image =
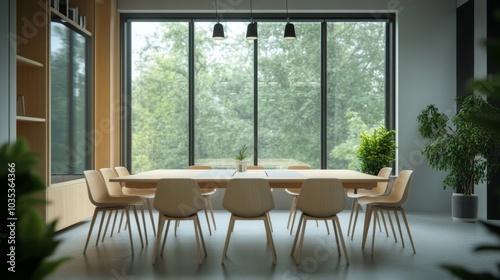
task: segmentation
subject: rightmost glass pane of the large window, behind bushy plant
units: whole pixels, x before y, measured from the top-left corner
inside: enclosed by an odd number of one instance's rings
[[[385,24],[328,23],[328,168],[357,168],[359,135],[385,123]]]

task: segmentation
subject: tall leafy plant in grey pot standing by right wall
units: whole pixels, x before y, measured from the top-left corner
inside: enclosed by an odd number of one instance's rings
[[[443,188],[453,188],[452,218],[475,222],[478,198],[474,186],[488,179],[488,171],[500,168],[500,159],[491,156],[500,139],[494,132],[477,123],[477,113],[498,114],[500,111],[478,94],[457,97],[459,110],[450,119],[434,105],[428,105],[417,118],[418,129],[429,143],[422,155],[432,168],[449,171]]]

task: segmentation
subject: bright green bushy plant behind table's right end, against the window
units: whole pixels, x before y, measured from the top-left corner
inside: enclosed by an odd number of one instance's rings
[[[387,130],[385,126],[372,133],[361,133],[361,143],[356,150],[361,172],[377,175],[380,169],[392,164],[396,155],[395,136],[396,131]]]

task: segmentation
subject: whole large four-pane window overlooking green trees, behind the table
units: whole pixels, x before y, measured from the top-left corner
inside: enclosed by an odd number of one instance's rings
[[[133,172],[234,168],[244,144],[266,168],[355,169],[360,133],[393,128],[391,20],[294,20],[287,41],[284,23],[268,19],[248,41],[248,20],[233,19],[217,41],[214,22],[127,17],[123,153]]]

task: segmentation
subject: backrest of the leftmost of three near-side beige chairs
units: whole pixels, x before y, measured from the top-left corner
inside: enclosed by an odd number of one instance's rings
[[[154,208],[168,217],[189,217],[202,210],[205,201],[193,179],[160,179],[156,186]]]

